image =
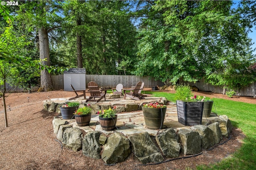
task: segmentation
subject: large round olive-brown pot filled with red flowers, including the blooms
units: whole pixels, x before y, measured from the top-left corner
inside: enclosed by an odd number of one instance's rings
[[[148,129],[162,129],[166,113],[166,105],[158,102],[142,104],[142,111]]]

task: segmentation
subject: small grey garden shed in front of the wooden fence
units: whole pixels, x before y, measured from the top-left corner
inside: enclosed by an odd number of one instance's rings
[[[70,68],[68,71],[64,71],[64,91],[73,91],[70,84],[75,90],[85,90],[85,76],[85,68]]]

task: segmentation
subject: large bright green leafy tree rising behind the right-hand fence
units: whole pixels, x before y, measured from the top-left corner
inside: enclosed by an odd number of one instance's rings
[[[237,77],[231,80],[230,76],[235,70],[245,70],[253,59],[250,39],[240,24],[242,20],[231,13],[232,2],[154,1],[149,4],[152,8],[140,28],[138,55],[142,60],[136,74],[152,75],[163,82],[170,78],[172,83],[179,78],[191,82],[207,76],[214,84],[215,80],[210,79],[218,67],[222,65],[224,72],[232,65],[233,71],[226,72],[226,81],[221,85],[230,88],[245,85],[234,84]],[[231,63],[240,63],[242,68]],[[242,76],[245,72],[237,74]],[[251,80],[248,76],[246,82]]]

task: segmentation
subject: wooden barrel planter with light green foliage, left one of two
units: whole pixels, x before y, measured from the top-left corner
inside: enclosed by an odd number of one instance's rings
[[[88,104],[90,106],[90,104]],[[84,106],[75,111],[75,119],[78,126],[89,125],[92,116],[92,109],[88,106]]]

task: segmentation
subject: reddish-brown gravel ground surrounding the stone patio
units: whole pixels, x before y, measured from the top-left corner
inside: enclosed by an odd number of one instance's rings
[[[173,91],[166,92],[173,93]],[[221,94],[199,92],[195,94],[225,98]],[[244,139],[240,129],[233,129],[229,141],[213,150],[204,151],[199,156],[143,166],[133,154],[130,154],[126,161],[107,166],[101,159],[84,156],[81,150],[74,152],[65,147],[61,149],[60,143],[55,140],[52,119],[58,114],[44,111],[42,102],[48,98],[73,96],[74,92],[61,90],[32,94],[6,94],[6,104],[9,106],[7,128],[5,128],[3,106],[0,106],[0,170],[183,170],[188,167],[194,169],[198,164],[219,162],[230,156],[241,147],[242,139]],[[249,97],[231,98],[230,100],[256,104],[256,100]],[[223,141],[226,140],[226,138],[223,139]]]

